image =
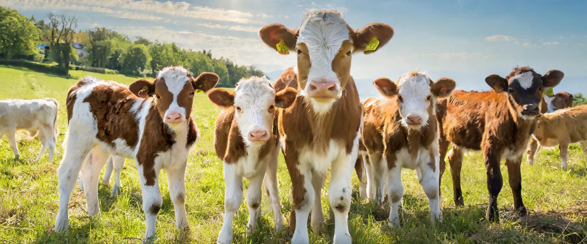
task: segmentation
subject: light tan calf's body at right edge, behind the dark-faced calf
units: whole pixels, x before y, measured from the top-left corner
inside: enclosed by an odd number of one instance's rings
[[[531,144],[528,149],[529,164],[534,163],[538,146],[554,147],[559,145],[561,167],[566,170],[569,143],[581,143],[583,153],[587,153],[587,105],[559,109],[538,116],[532,138],[537,144]]]

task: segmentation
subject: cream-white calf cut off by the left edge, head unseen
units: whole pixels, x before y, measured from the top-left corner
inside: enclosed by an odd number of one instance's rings
[[[41,152],[35,161],[49,149],[49,161],[53,161],[57,143],[57,114],[59,104],[53,98],[0,100],[0,139],[6,135],[14,157],[19,160],[16,147],[16,130],[26,130],[29,136],[41,140]]]

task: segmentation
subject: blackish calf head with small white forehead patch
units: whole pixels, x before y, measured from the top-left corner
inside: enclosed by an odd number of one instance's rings
[[[505,78],[492,74],[485,78],[495,93],[507,92],[510,108],[515,109],[522,119],[534,119],[540,114],[540,101],[545,89],[558,85],[564,73],[548,71],[545,75],[536,73],[530,67],[518,67]]]

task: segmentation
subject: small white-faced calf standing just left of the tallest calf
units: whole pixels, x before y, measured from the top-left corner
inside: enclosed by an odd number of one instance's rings
[[[288,107],[297,94],[294,88],[275,92],[269,80],[261,77],[240,80],[234,92],[217,88],[208,93],[214,104],[224,108],[216,119],[214,133],[214,148],[224,162],[226,184],[224,223],[218,243],[232,242],[232,219],[242,203],[243,177],[249,180],[248,231],[255,229],[261,214],[262,183],[275,216],[275,229],[281,230],[284,217],[277,188],[279,135],[273,120],[275,107]]]

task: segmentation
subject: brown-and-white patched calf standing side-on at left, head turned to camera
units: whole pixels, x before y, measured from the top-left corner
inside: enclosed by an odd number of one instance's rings
[[[217,82],[218,75],[214,73],[193,78],[182,67],[167,67],[153,82],[139,80],[130,87],[93,77],[82,78],[73,85],[67,97],[69,125],[65,154],[57,171],[59,214],[55,231],[68,228],[68,204],[82,168],[87,213],[99,214],[100,170],[110,154],[137,162],[147,221],[146,238],[156,234],[155,223],[162,203],[158,184],[161,169],[167,172],[176,227],[188,225],[184,178],[188,152],[198,138],[190,116],[194,91],[208,91]],[[137,97],[141,91],[150,97]],[[88,153],[92,154],[91,160],[82,164]]]

